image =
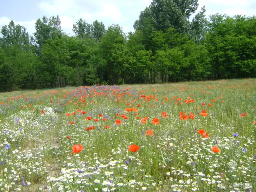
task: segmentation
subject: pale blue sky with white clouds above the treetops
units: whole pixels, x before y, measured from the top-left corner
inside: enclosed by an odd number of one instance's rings
[[[0,0],[0,29],[13,20],[32,35],[38,18],[58,15],[63,32],[69,35],[74,35],[73,24],[80,18],[88,24],[95,20],[102,21],[106,29],[112,24],[119,24],[128,33],[134,31],[134,22],[151,2],[152,0]],[[198,3],[197,12],[202,6],[206,6],[206,16],[216,13],[253,16],[256,13],[256,0],[198,0]]]

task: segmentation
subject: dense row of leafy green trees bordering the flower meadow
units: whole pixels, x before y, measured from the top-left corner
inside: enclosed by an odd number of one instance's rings
[[[124,34],[78,20],[74,36],[43,16],[30,36],[10,21],[0,38],[0,91],[256,77],[256,17],[205,15],[198,0],[153,0]]]

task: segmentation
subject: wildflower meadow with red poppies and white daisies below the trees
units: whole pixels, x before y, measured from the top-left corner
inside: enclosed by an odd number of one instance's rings
[[[256,79],[0,94],[0,191],[256,191]]]

